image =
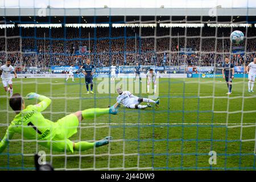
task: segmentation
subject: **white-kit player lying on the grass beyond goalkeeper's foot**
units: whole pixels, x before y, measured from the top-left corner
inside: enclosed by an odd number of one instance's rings
[[[117,88],[117,93],[119,94],[117,102],[130,109],[144,109],[146,107],[151,107],[149,103],[147,103],[147,105],[141,105],[141,102],[151,102],[159,105],[159,99],[157,101],[153,101],[149,98],[139,98],[131,94],[129,91],[122,91],[121,88]]]

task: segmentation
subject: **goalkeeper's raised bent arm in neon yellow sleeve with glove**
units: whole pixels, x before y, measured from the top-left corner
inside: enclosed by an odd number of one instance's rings
[[[45,110],[52,102],[52,100],[46,96],[41,96],[37,93],[31,92],[27,94],[27,99],[32,100],[32,99],[38,99],[40,102],[36,104],[36,109],[40,112]]]

